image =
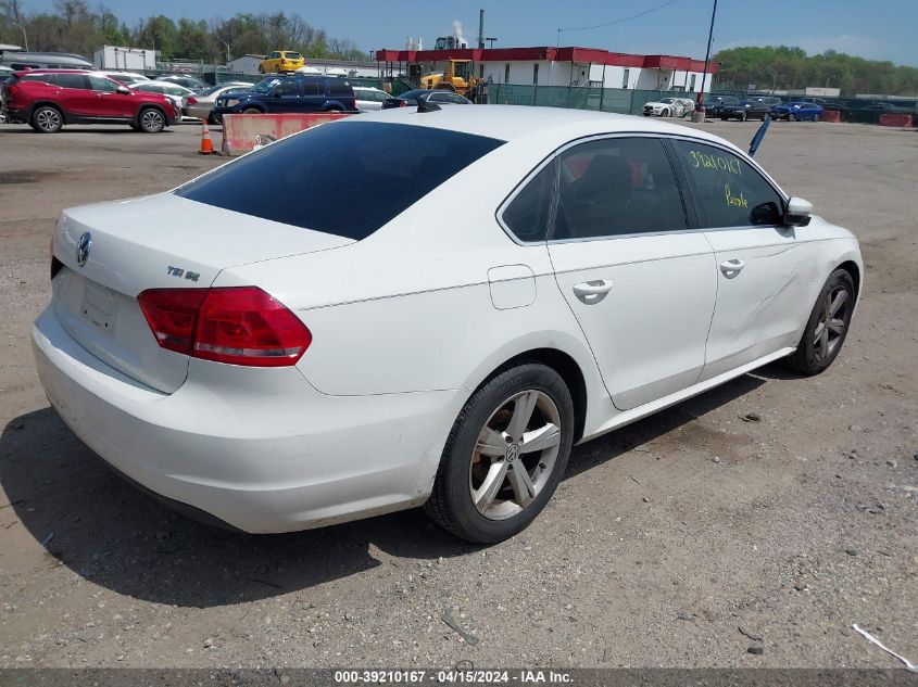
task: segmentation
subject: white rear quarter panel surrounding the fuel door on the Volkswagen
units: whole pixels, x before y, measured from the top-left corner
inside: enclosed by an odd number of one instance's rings
[[[595,361],[545,245],[517,244],[495,218],[548,152],[523,148],[498,149],[363,241],[227,269],[215,285],[256,283],[293,309],[314,336],[299,367],[326,394],[474,389],[540,347],[567,353],[590,384]],[[476,200],[457,212],[460,198]],[[489,269],[516,265],[530,270],[535,301],[498,309]]]

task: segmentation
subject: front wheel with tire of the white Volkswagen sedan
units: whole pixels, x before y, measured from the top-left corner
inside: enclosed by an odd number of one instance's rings
[[[854,311],[854,279],[844,269],[837,269],[822,285],[800,343],[788,362],[801,374],[819,374],[838,357],[847,336]]]

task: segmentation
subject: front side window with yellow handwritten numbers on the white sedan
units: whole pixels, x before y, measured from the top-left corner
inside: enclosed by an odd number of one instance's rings
[[[719,148],[674,141],[702,227],[781,222],[784,202],[752,165]]]

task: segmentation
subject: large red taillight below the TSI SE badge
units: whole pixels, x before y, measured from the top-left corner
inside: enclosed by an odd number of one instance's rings
[[[281,367],[312,343],[306,326],[257,287],[151,289],[137,300],[156,342],[196,358]]]

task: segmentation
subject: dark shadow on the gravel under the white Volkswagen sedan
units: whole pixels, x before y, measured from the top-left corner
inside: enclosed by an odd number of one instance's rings
[[[764,384],[743,376],[574,449],[565,479],[613,460]],[[419,509],[281,535],[247,535],[178,516],[122,481],[51,408],[0,435],[0,527],[24,526],[49,565],[118,594],[206,608],[287,594],[400,559],[464,556],[481,547]],[[12,512],[11,512],[12,511]]]

